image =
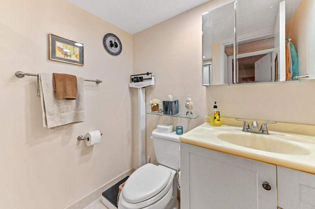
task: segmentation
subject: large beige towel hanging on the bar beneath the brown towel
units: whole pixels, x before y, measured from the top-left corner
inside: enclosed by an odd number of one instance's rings
[[[77,77],[76,100],[59,100],[53,87],[52,74],[38,74],[37,95],[40,96],[43,126],[51,131],[84,121],[84,78]]]

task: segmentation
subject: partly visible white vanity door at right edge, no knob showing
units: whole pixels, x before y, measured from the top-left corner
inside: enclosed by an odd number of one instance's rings
[[[283,209],[315,209],[315,175],[277,166],[278,205]]]

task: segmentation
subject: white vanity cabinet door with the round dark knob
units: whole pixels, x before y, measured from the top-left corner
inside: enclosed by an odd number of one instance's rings
[[[275,165],[181,143],[181,209],[275,209],[276,178]]]

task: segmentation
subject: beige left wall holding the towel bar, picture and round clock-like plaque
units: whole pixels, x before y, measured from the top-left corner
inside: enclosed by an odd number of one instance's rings
[[[133,39],[66,0],[10,0],[0,6],[0,208],[63,209],[132,169]],[[49,33],[84,44],[84,66],[49,60]],[[116,34],[123,51],[103,47]],[[51,132],[42,125],[36,78],[14,73],[68,73],[85,82],[85,122]],[[94,147],[77,141],[99,130]]]

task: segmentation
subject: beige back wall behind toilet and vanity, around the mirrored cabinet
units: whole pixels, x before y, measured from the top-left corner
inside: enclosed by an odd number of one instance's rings
[[[204,115],[211,114],[214,101],[223,117],[315,125],[315,81],[201,86],[201,14],[231,1],[211,0],[134,35],[134,73],[149,71],[156,75],[156,85],[147,88],[147,103],[172,94],[179,99],[183,113],[189,94],[194,102],[192,112],[200,115],[182,119],[147,114],[147,156],[154,163],[150,136],[156,126],[183,125],[184,131],[189,131],[203,123]],[[133,104],[136,112],[136,101]],[[147,111],[149,108],[147,104]]]

